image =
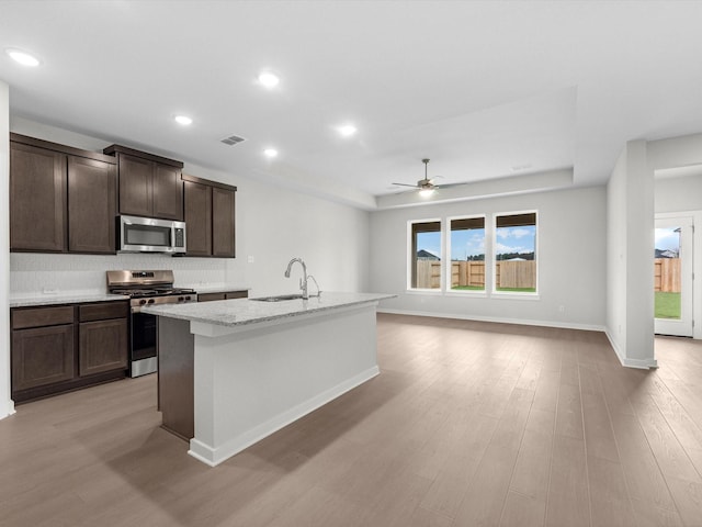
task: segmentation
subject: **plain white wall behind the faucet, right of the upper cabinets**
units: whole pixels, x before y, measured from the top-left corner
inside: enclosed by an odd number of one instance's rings
[[[227,260],[229,281],[246,277],[254,295],[296,292],[302,269],[291,278],[284,271],[302,257],[322,291],[367,290],[367,212],[253,181],[239,186],[237,208],[239,256]]]

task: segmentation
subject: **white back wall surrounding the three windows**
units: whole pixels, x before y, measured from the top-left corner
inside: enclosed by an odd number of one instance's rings
[[[537,300],[406,290],[408,221],[524,210],[539,211]],[[371,213],[371,290],[398,295],[383,302],[386,311],[602,329],[604,234],[604,187],[377,211]]]

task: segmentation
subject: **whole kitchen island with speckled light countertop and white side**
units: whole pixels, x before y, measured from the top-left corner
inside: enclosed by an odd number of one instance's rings
[[[216,466],[380,373],[375,313],[389,294],[158,305],[159,408]]]

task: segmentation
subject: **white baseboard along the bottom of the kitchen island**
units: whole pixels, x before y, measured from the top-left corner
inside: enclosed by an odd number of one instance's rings
[[[239,453],[241,450],[250,447],[254,442],[260,441],[264,437],[280,430],[281,428],[290,425],[291,423],[304,417],[305,415],[314,412],[315,410],[324,406],[328,402],[343,395],[350,390],[370,381],[374,377],[378,375],[381,370],[377,366],[370,368],[361,373],[347,379],[346,381],[324,391],[322,393],[315,395],[314,397],[304,401],[303,403],[279,414],[265,423],[261,423],[259,426],[251,430],[247,430],[238,437],[220,445],[217,448],[213,448],[210,445],[193,438],[190,440],[190,450],[188,453],[193,458],[202,461],[210,467],[216,467],[217,464],[226,461],[231,456]]]

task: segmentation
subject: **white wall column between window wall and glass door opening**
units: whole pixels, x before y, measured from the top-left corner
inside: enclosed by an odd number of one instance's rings
[[[623,365],[655,367],[654,173],[645,141],[625,145],[607,198],[607,335]]]

